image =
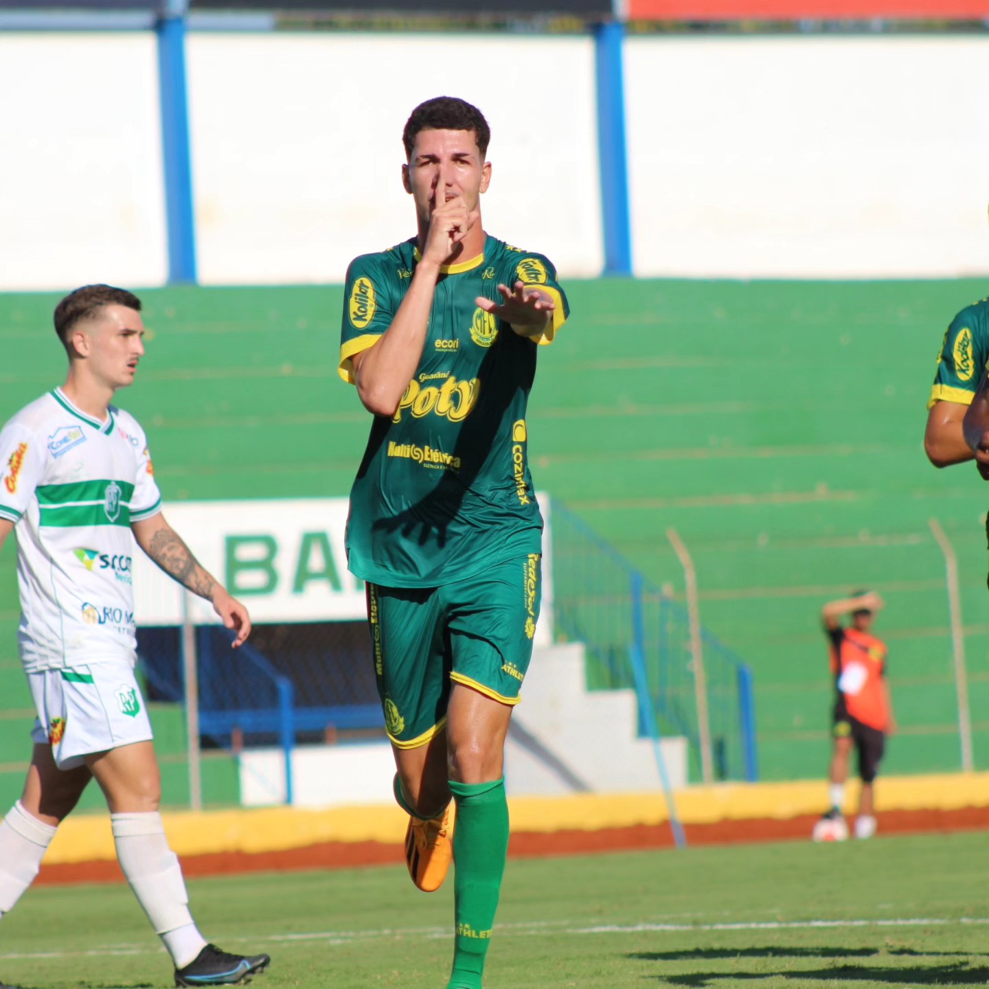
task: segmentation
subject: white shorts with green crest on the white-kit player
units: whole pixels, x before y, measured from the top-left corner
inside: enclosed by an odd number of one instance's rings
[[[33,742],[51,746],[59,769],[83,756],[151,738],[147,705],[128,660],[28,674],[38,721]]]

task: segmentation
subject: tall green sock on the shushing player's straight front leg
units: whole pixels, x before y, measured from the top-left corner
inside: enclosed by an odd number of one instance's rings
[[[457,804],[453,832],[456,938],[447,989],[481,989],[508,853],[504,779],[490,783],[450,780]]]

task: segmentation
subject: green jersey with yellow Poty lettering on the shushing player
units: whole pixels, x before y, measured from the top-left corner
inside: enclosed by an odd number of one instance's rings
[[[392,323],[419,259],[415,240],[356,258],[347,271],[340,376]],[[556,310],[527,339],[475,302],[498,284],[538,286]],[[529,474],[525,405],[536,350],[569,313],[542,255],[489,236],[484,254],[444,266],[422,356],[398,411],[376,415],[350,493],[347,554],[373,584],[428,587],[541,551],[543,520]]]

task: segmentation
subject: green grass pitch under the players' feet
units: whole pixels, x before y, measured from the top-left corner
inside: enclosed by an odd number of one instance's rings
[[[603,841],[603,839],[602,839]],[[512,860],[489,989],[972,985],[989,981],[984,835]],[[207,937],[265,950],[259,989],[442,989],[452,889],[404,868],[189,883]],[[24,989],[171,985],[124,885],[43,886],[0,925]]]

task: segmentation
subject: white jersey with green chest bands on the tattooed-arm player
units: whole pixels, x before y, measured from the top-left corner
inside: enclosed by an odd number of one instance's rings
[[[136,658],[131,523],[161,510],[144,432],[60,389],[0,431],[0,518],[16,523],[28,673]]]

